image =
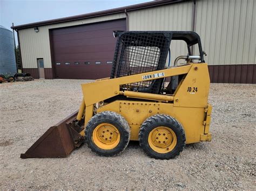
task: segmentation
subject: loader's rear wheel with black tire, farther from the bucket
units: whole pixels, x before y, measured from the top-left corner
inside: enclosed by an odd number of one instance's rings
[[[172,159],[186,144],[183,126],[173,117],[157,114],[146,119],[139,131],[139,145],[155,159]]]

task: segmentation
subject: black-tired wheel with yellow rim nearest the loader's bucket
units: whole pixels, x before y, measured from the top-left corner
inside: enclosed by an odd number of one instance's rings
[[[92,152],[112,157],[125,150],[131,136],[130,126],[120,114],[103,111],[93,116],[85,128],[85,142]]]

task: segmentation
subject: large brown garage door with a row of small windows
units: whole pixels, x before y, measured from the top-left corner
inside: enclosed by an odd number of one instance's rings
[[[52,30],[51,48],[55,77],[109,77],[116,46],[113,31],[116,30],[126,30],[125,19]]]

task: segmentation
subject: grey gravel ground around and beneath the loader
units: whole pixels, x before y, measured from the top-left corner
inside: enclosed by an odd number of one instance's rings
[[[256,189],[255,84],[211,84],[212,142],[186,145],[172,160],[147,157],[138,142],[112,158],[83,145],[68,158],[20,159],[51,125],[78,109],[83,82],[0,84],[1,190]]]

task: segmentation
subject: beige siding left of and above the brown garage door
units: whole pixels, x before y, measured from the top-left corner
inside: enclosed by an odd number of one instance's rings
[[[39,32],[37,33],[33,30],[33,28],[19,30],[23,68],[37,68],[37,58],[44,59],[45,68],[51,68],[49,29],[87,23],[96,23],[105,20],[120,19],[125,17],[125,13],[118,13],[109,16],[76,20],[67,23],[45,25],[40,26]]]

